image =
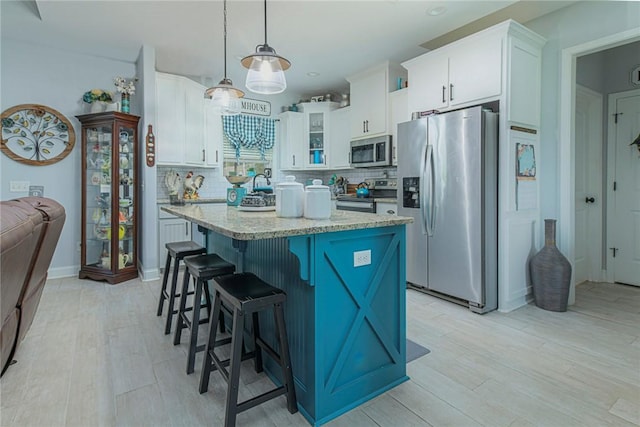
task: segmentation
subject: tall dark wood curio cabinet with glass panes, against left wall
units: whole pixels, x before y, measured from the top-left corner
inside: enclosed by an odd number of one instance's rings
[[[79,277],[120,283],[138,275],[140,118],[120,112],[85,114],[77,118],[82,123]]]

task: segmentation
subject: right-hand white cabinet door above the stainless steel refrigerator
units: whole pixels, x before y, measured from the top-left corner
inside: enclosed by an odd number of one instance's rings
[[[449,53],[449,104],[458,106],[500,95],[502,37],[471,38]]]

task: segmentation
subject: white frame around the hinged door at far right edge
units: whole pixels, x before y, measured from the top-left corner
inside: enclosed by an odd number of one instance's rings
[[[614,224],[614,204],[610,201],[615,197],[613,191],[613,181],[615,179],[615,157],[616,157],[616,144],[615,144],[615,122],[612,118],[612,112],[615,108],[616,102],[618,99],[627,98],[629,96],[640,96],[640,89],[631,89],[624,92],[615,92],[609,94],[609,100],[607,105],[607,248],[610,248],[613,245],[611,242],[611,233],[610,230],[613,230]],[[613,143],[612,143],[613,142]],[[607,282],[613,283],[613,269],[609,268],[609,266],[613,265],[613,253],[607,249],[607,269],[605,278]]]

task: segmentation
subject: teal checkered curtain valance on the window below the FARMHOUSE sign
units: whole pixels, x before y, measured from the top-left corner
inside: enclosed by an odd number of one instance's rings
[[[275,120],[267,117],[222,116],[224,134],[240,157],[241,147],[258,149],[265,159],[265,151],[273,148],[276,139]]]

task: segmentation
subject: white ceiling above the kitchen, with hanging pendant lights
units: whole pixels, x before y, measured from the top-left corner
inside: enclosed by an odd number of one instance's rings
[[[270,0],[268,43],[289,59],[288,90],[348,91],[346,76],[401,62],[507,18],[527,22],[573,1]],[[223,3],[208,1],[1,1],[2,39],[134,62],[143,44],[158,71],[216,84],[223,71]],[[432,16],[429,12],[444,9]],[[244,88],[239,59],[264,43],[264,2],[228,0],[227,75]],[[461,28],[462,27],[462,28]],[[457,31],[454,31],[457,30]],[[434,45],[435,43],[435,45]],[[317,73],[310,77],[308,73]]]

